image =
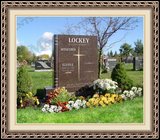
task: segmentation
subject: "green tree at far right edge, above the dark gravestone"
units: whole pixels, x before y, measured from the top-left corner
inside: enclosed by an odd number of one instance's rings
[[[136,53],[137,56],[142,56],[143,55],[143,43],[142,40],[137,40],[136,42],[134,42],[135,44],[135,48],[134,48],[134,52]]]

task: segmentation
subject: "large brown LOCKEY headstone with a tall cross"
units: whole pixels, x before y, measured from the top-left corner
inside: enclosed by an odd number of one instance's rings
[[[96,36],[54,36],[54,83],[75,92],[98,78]]]

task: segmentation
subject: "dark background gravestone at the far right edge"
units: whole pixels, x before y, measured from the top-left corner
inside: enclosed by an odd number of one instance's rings
[[[143,69],[143,58],[134,57],[133,58],[133,69],[142,70]]]

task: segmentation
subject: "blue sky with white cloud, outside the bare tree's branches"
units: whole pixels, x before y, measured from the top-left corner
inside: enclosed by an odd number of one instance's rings
[[[25,45],[31,52],[36,55],[52,53],[52,37],[54,34],[65,33],[66,26],[77,25],[82,17],[17,17],[17,46]],[[138,26],[134,30],[118,31],[112,36],[108,42],[111,44],[115,41],[120,41],[114,44],[108,50],[104,48],[104,53],[108,51],[117,51],[123,43],[130,44],[133,48],[134,42],[137,39],[143,40],[143,17],[138,17]],[[77,33],[78,34],[78,33]]]

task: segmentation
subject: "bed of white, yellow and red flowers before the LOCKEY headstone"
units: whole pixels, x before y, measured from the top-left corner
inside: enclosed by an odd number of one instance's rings
[[[117,92],[117,82],[110,79],[98,79],[94,81],[93,88],[96,93],[89,99],[85,99],[84,97],[73,98],[69,96],[65,87],[56,88],[49,93],[42,111],[58,113],[86,107],[106,107],[128,99],[132,100],[137,96],[142,96],[142,88],[137,87],[132,87],[131,90],[125,90],[123,93]]]

